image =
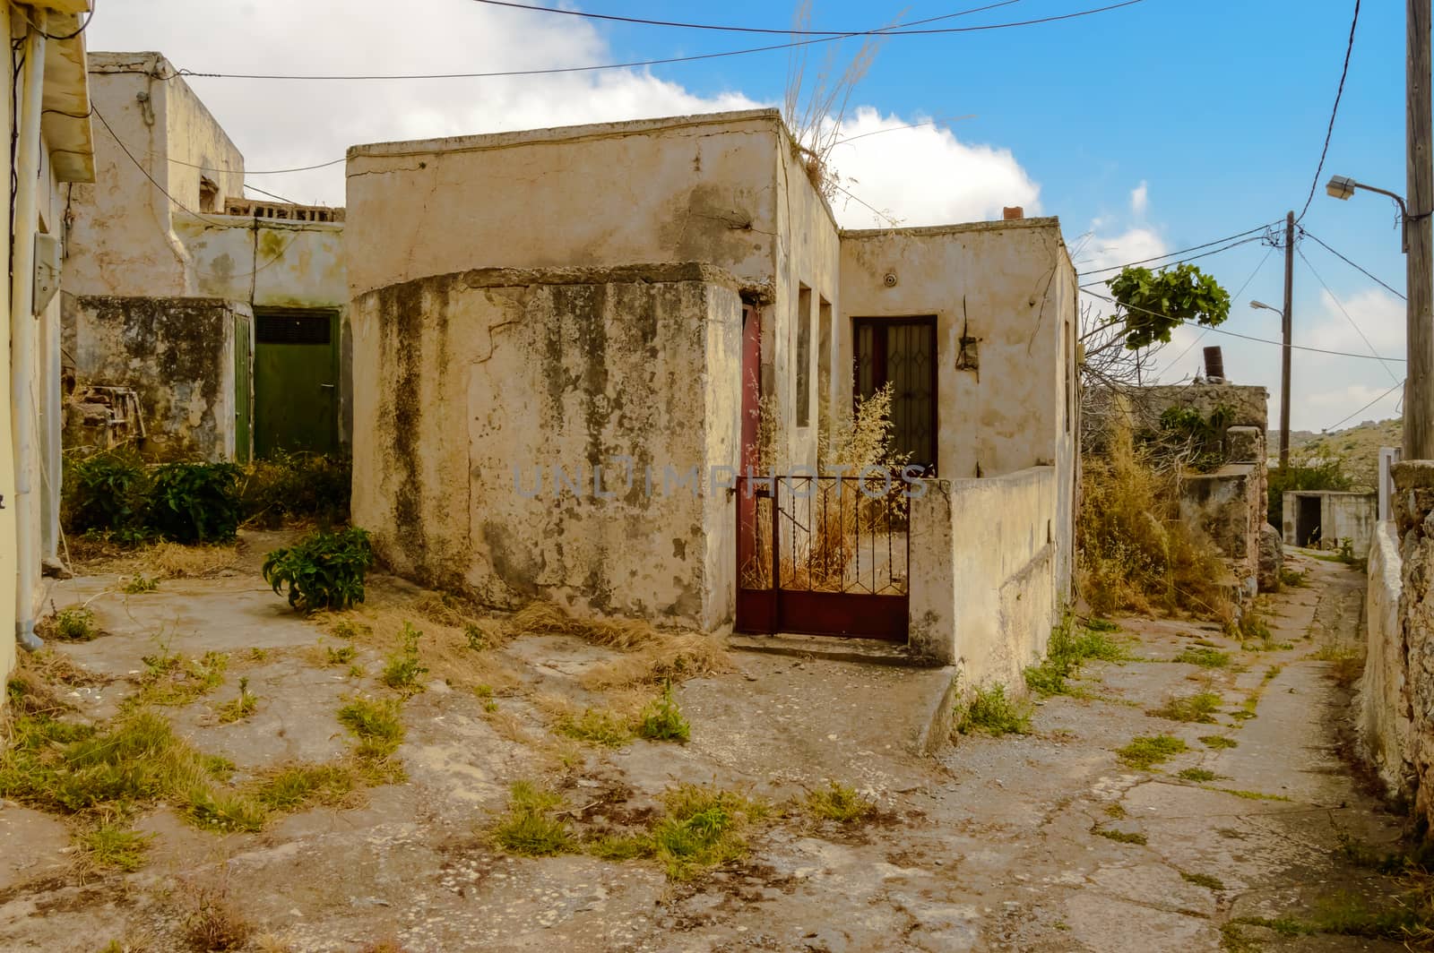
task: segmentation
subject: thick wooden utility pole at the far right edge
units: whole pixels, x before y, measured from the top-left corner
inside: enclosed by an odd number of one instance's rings
[[[1430,7],[1407,0],[1405,148],[1408,211],[1408,377],[1404,381],[1404,459],[1434,460],[1434,165],[1430,156]]]

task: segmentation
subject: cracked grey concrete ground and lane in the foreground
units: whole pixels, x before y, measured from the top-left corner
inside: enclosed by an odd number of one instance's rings
[[[554,774],[538,698],[588,704],[581,675],[612,652],[562,636],[522,639],[502,649],[513,686],[489,702],[450,679],[406,704],[409,781],[373,788],[356,807],[314,808],[227,837],[159,808],[141,821],[156,837],[149,867],[77,883],[63,874],[63,825],[6,805],[0,949],[98,950],[110,939],[192,949],[176,884],[217,870],[242,899],[255,927],[245,949],[255,950],[361,950],[384,939],[413,953],[1404,949],[1243,923],[1306,917],[1397,889],[1341,853],[1347,843],[1391,848],[1400,834],[1400,818],[1341,758],[1348,694],[1332,676],[1341,649],[1361,639],[1364,576],[1301,556],[1292,563],[1308,585],[1260,600],[1269,651],[1243,651],[1209,623],[1120,619],[1134,661],[1088,664],[1077,696],[1037,705],[1030,735],[962,737],[935,758],[916,755],[885,714],[909,691],[908,672],[740,652],[736,671],[677,689],[690,744],[582,748]],[[105,583],[67,585],[62,605]],[[239,645],[268,612],[251,589],[191,582],[135,598],[149,600],[143,612],[102,609],[112,635],[63,651],[123,674],[151,629],[191,616],[205,631],[172,638]],[[374,599],[383,598],[379,586]],[[264,652],[242,662],[265,699],[252,722],[215,725],[204,702],[175,712],[196,745],[241,768],[328,757],[338,699],[376,688],[315,661],[320,629],[275,615],[255,643]],[[1226,652],[1232,664],[1173,661],[1189,648]],[[125,689],[85,691],[85,705],[105,712]],[[1152,714],[1200,691],[1220,696],[1209,722]],[[1121,764],[1119,748],[1160,734],[1184,751],[1152,770]],[[627,820],[650,815],[677,782],[779,803],[835,780],[879,810],[853,827],[779,817],[750,833],[744,860],[668,883],[647,861],[496,851],[485,828],[508,785],[536,777],[556,778],[575,813]]]

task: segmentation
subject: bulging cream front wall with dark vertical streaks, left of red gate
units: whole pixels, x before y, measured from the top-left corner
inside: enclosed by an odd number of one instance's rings
[[[479,269],[363,294],[353,320],[354,520],[399,572],[498,606],[730,622],[736,516],[707,474],[737,463],[736,279]]]

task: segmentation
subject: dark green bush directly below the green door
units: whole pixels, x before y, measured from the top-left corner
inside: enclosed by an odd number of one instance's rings
[[[348,457],[277,450],[250,464],[241,502],[245,520],[281,526],[285,519],[315,519],[323,527],[348,520],[353,463]]]

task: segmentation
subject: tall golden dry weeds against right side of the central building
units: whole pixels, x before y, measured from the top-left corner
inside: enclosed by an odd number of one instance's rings
[[[1215,543],[1180,519],[1179,474],[1152,466],[1121,423],[1111,424],[1101,446],[1101,454],[1081,463],[1076,523],[1090,608],[1233,618],[1229,569]]]

